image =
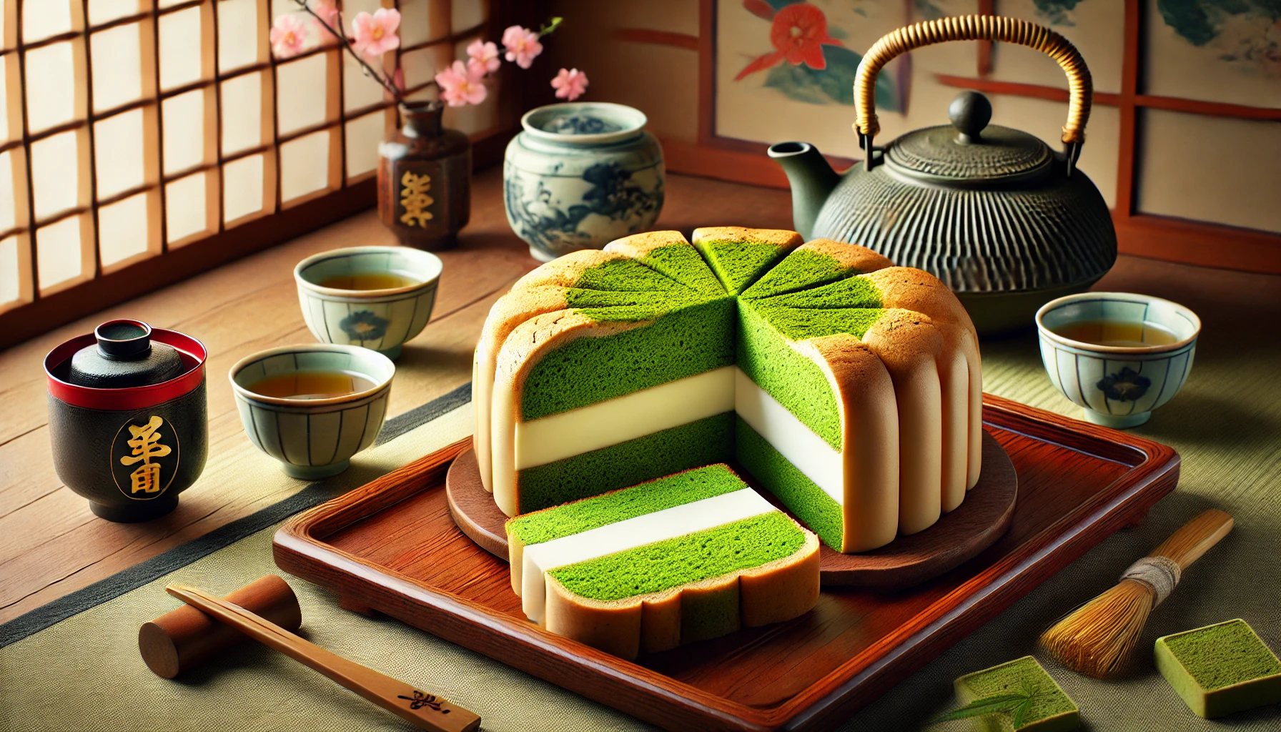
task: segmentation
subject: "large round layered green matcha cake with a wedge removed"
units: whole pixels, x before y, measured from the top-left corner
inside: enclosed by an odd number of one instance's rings
[[[980,469],[979,349],[933,276],[796,232],[701,228],[534,269],[477,347],[507,515],[738,460],[838,551],[915,533]]]

